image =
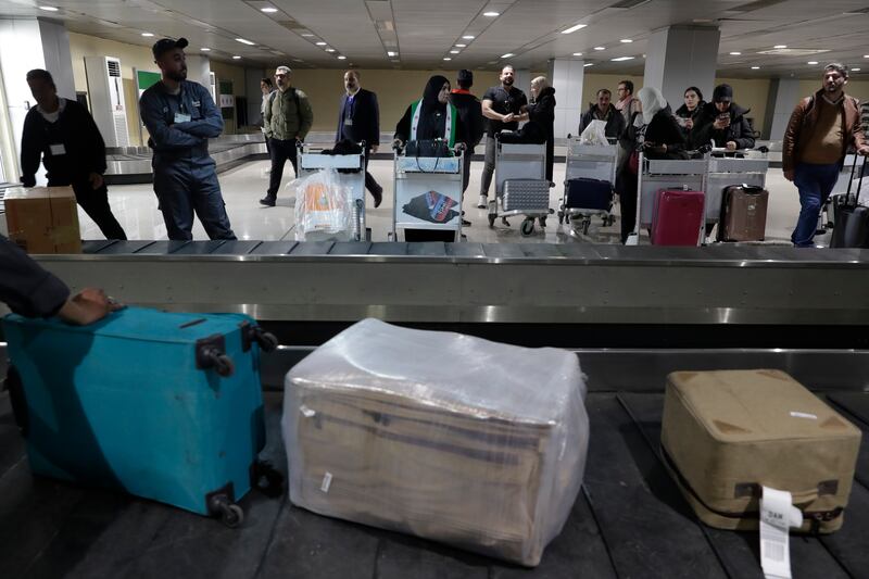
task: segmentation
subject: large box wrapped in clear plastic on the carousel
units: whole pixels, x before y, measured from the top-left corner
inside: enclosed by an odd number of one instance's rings
[[[294,366],[282,430],[290,500],[527,566],[582,483],[575,354],[366,319]]]

